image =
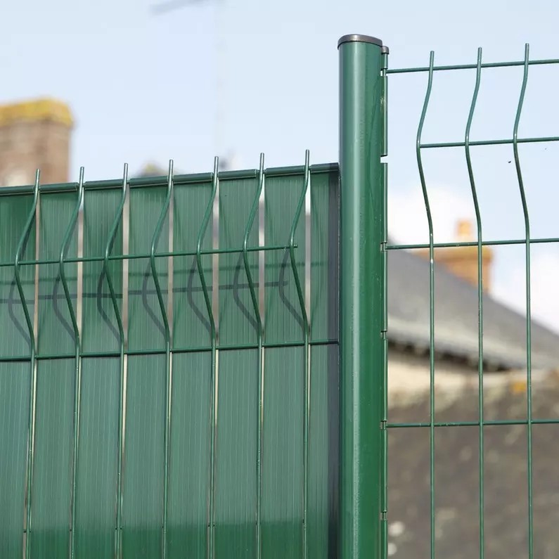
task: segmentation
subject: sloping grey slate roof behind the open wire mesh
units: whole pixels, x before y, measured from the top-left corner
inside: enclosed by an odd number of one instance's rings
[[[477,362],[477,288],[435,262],[435,351]],[[405,250],[388,252],[388,339],[419,351],[429,347],[429,263]],[[483,297],[484,361],[526,367],[526,319]],[[559,335],[532,319],[532,367],[559,368]]]

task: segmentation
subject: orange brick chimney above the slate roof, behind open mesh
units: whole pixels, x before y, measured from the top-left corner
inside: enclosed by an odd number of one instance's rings
[[[458,243],[475,242],[473,224],[461,219],[456,224],[456,241]],[[429,258],[429,250],[420,251],[421,256]],[[489,247],[482,248],[483,290],[491,290],[491,264],[493,251]],[[462,278],[477,287],[477,246],[435,248],[435,263],[444,266],[455,276]]]

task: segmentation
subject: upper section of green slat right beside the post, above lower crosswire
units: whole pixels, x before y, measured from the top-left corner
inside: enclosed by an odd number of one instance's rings
[[[340,172],[311,174],[311,341],[338,340]]]

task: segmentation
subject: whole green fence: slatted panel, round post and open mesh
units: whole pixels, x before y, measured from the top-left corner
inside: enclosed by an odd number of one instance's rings
[[[526,48],[524,60],[483,63],[480,50],[475,64],[435,66],[431,54],[425,68],[393,70],[378,39],[349,35],[338,48],[339,165],[310,165],[307,153],[299,167],[266,169],[262,155],[248,171],[220,172],[216,159],[212,172],[179,175],[171,162],[162,177],[130,178],[125,166],[122,179],[85,181],[82,169],[77,183],[41,185],[37,173],[34,186],[0,189],[0,557],[361,559],[401,548],[432,559],[512,557],[493,534],[506,518],[499,499],[518,488],[487,478],[491,445],[509,444],[510,428],[525,429],[526,443],[514,550],[557,556],[535,535],[534,440],[536,427],[559,418],[556,402],[534,407],[533,389],[541,364],[559,362],[559,341],[532,321],[530,258],[534,245],[559,238],[530,235],[519,146],[559,136],[518,131],[530,67],[559,60],[530,60]],[[512,137],[470,139],[483,70],[509,66],[523,70]],[[464,139],[425,143],[435,77],[459,70],[475,72]],[[397,244],[383,159],[388,82],[418,72],[427,78],[415,148],[429,241]],[[501,144],[513,148],[525,235],[487,240],[472,148]],[[435,243],[423,156],[446,148],[464,150],[477,240]],[[489,245],[525,249],[525,316],[489,323]],[[461,337],[436,330],[456,302],[437,264],[444,248],[476,251],[476,286],[454,294],[476,319],[467,419],[437,408],[437,354]],[[409,260],[414,250],[427,252],[422,265]],[[411,292],[423,287],[428,419],[415,420],[390,400],[389,361],[418,305]],[[391,314],[394,302],[409,314]],[[460,309],[450,313],[460,323]],[[525,416],[489,414],[488,333],[519,316],[525,351],[506,335],[498,349],[505,368],[518,368],[522,353]],[[552,349],[542,361],[544,346]],[[444,437],[466,430],[475,430],[475,465],[463,478],[439,477],[440,461],[455,458]],[[497,465],[505,472],[506,458]],[[474,532],[463,498],[472,475]],[[442,484],[458,495],[451,520],[468,546],[441,539],[450,518]],[[555,489],[544,487],[548,505]],[[402,510],[419,532],[398,526]]]

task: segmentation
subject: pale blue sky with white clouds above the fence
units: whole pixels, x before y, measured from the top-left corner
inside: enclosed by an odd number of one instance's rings
[[[147,0],[39,0],[0,8],[0,101],[56,96],[76,119],[72,174],[120,176],[148,162],[209,170],[217,150],[236,167],[338,159],[338,52],[342,34],[373,34],[390,46],[390,66],[559,58],[559,5],[552,0],[257,0],[202,2],[154,17]],[[220,44],[221,48],[217,49]],[[221,54],[219,54],[221,53]],[[219,54],[219,56],[218,56]],[[221,94],[217,96],[217,68]],[[404,242],[425,238],[413,140],[426,75],[390,81],[390,224]],[[472,138],[511,137],[522,69],[484,71]],[[435,76],[425,141],[463,139],[475,72]],[[520,136],[559,135],[559,65],[530,68]],[[218,103],[219,101],[219,103]],[[217,107],[224,119],[215,127]],[[522,146],[532,236],[559,236],[559,151]],[[512,147],[477,148],[473,165],[485,238],[522,237]],[[425,154],[436,240],[472,217],[463,150]],[[559,328],[555,245],[533,252],[534,316]],[[496,252],[494,293],[522,309],[521,247]]]

